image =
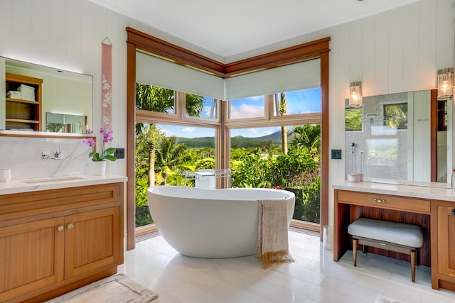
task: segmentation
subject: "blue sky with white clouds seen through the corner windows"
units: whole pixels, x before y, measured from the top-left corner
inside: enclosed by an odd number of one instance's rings
[[[314,113],[321,111],[321,89],[306,89],[297,92],[287,92],[287,114]],[[210,116],[211,98],[204,99],[204,109],[201,117]],[[264,97],[251,97],[236,99],[232,102],[231,111],[236,118],[247,118],[254,116],[263,116],[264,114]],[[194,126],[172,126],[166,124],[157,124],[166,136],[177,136],[183,138],[198,137],[215,137],[213,128],[202,128]],[[262,127],[262,128],[237,128],[231,130],[231,136],[244,136],[249,138],[267,136],[279,131],[279,126]]]

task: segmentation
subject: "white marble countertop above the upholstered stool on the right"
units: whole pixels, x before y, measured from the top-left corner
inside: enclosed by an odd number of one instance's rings
[[[444,187],[424,187],[419,185],[385,184],[375,182],[339,182],[332,185],[333,189],[373,194],[392,194],[402,197],[437,199],[455,202],[455,189]]]

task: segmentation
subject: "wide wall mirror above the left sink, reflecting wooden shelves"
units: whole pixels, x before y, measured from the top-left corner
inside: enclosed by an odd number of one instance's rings
[[[90,75],[0,57],[0,83],[1,130],[85,133],[93,125]]]

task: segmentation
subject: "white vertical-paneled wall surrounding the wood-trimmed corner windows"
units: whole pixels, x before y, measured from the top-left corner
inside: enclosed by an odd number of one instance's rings
[[[365,96],[436,87],[437,70],[454,66],[454,16],[455,0],[421,0],[248,53],[220,58],[88,0],[0,0],[0,55],[93,75],[96,129],[100,126],[97,117],[101,115],[101,43],[109,37],[113,44],[112,145],[124,147],[127,138],[125,27],[136,28],[221,62],[329,36],[329,148],[342,148],[344,117],[341,113],[344,99],[348,97],[349,82],[361,80]],[[118,160],[109,170],[124,175],[125,165],[124,160]],[[331,160],[329,169],[331,183],[344,180],[344,160]]]

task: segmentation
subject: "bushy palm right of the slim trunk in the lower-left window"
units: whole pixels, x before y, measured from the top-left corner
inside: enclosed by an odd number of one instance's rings
[[[186,145],[176,142],[177,138],[174,136],[164,137],[156,148],[156,166],[159,167],[161,185],[166,185],[168,175],[183,169],[183,163],[190,158],[186,153]]]

